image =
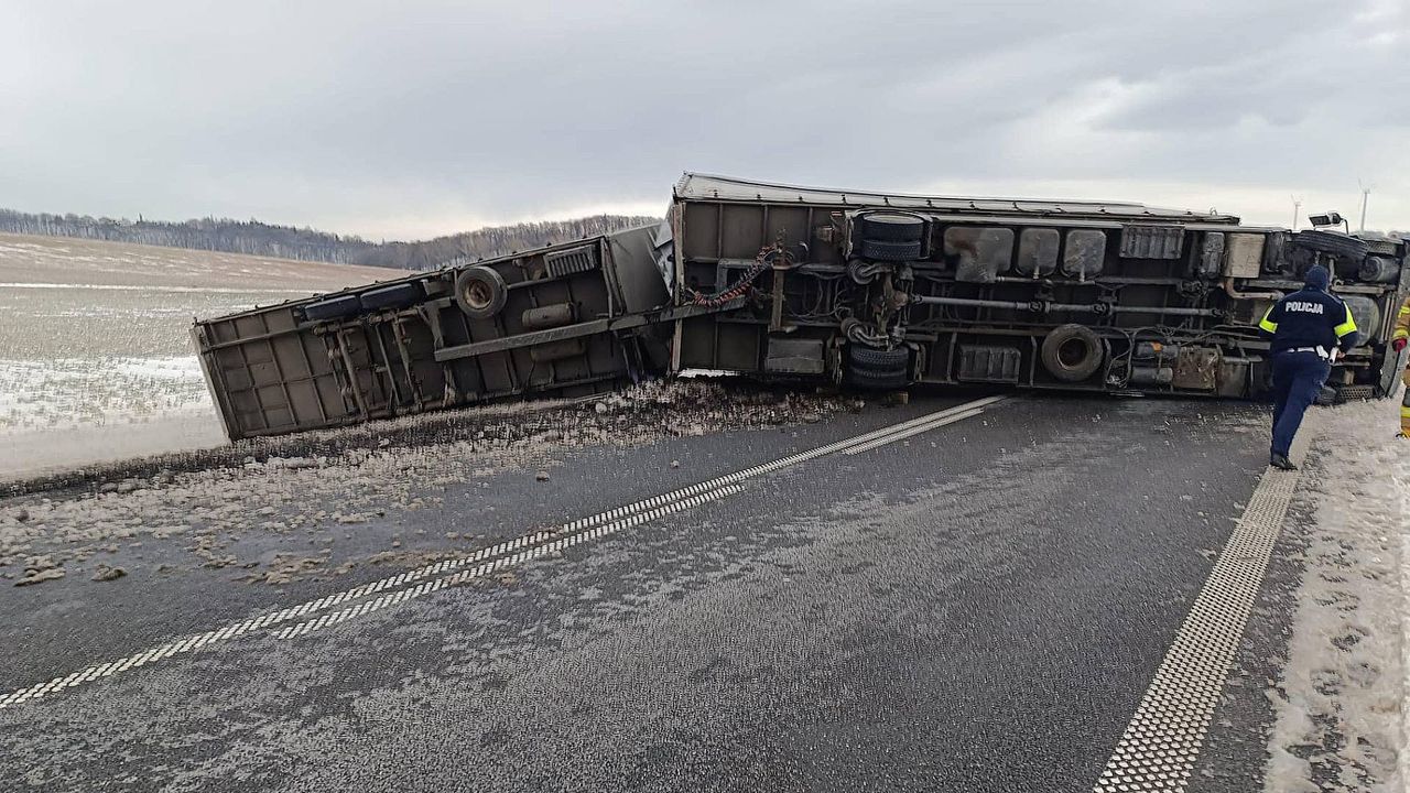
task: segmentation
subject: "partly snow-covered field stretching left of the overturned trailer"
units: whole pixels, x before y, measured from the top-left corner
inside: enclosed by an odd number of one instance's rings
[[[0,480],[223,443],[192,317],[396,275],[0,234]]]

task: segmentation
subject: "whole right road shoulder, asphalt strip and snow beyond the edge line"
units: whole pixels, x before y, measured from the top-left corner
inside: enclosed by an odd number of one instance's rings
[[[1394,401],[1321,409],[1194,790],[1399,792],[1410,444]]]

